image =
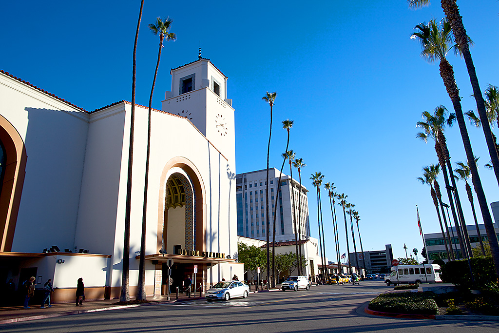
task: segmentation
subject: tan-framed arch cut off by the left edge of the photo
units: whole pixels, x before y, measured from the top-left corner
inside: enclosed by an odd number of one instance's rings
[[[15,222],[21,200],[26,150],[12,124],[0,116],[0,252],[9,252],[14,238]]]

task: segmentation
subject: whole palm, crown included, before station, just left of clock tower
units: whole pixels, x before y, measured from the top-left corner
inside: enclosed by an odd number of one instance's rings
[[[142,235],[140,242],[140,259],[139,259],[139,290],[137,293],[137,300],[146,300],[146,212],[147,212],[147,185],[149,181],[149,157],[151,150],[151,110],[153,102],[154,85],[156,84],[156,76],[158,75],[159,61],[161,59],[161,50],[163,49],[163,40],[175,40],[177,36],[175,33],[170,32],[172,20],[167,17],[162,20],[160,17],[156,18],[156,23],[150,23],[149,29],[154,35],[159,34],[159,51],[158,61],[156,62],[156,69],[154,71],[153,85],[151,87],[151,94],[149,95],[149,109],[147,118],[147,150],[146,150],[146,170],[144,177],[144,203],[142,205]]]

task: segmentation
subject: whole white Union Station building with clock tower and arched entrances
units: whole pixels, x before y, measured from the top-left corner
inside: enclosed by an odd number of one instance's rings
[[[152,111],[146,213],[146,293],[197,266],[196,288],[244,276],[237,259],[234,108],[227,76],[201,56],[171,70]],[[160,78],[161,79],[161,78]],[[122,258],[137,292],[148,110],[136,105],[130,253],[123,253],[131,103],[86,111],[0,72],[0,282],[34,276],[74,301],[119,297]]]

